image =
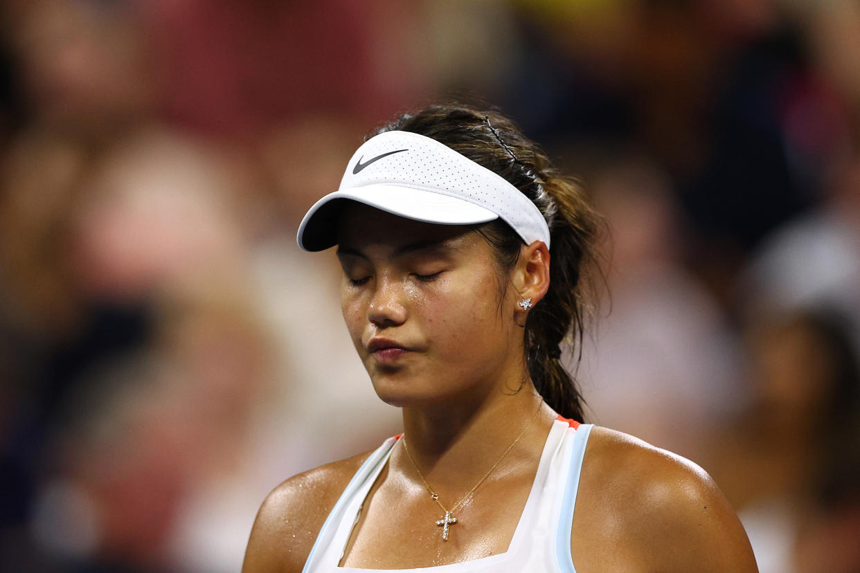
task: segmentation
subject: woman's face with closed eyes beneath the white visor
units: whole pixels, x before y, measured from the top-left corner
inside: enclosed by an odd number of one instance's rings
[[[486,392],[521,361],[512,289],[474,230],[352,204],[338,242],[344,320],[385,402]]]

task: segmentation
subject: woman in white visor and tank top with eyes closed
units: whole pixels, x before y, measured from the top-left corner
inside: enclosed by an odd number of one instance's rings
[[[559,358],[595,221],[498,113],[429,107],[365,141],[298,242],[337,245],[347,329],[404,431],[279,485],[244,570],[756,570],[705,472],[581,424]]]

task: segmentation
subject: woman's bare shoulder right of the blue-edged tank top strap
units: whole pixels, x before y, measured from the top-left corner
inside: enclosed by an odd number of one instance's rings
[[[722,491],[701,467],[677,454],[594,427],[580,492],[571,538],[574,563],[577,549],[588,560],[584,548],[577,548],[580,532],[594,554],[614,547],[619,569],[757,570],[746,532]],[[589,527],[576,527],[578,517],[584,518],[580,526]]]

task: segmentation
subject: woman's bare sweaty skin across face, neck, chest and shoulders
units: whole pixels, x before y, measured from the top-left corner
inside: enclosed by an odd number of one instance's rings
[[[524,377],[522,298],[550,284],[543,242],[500,277],[473,230],[409,221],[363,205],[341,220],[341,302],[379,397],[402,408],[415,463],[447,508],[519,442],[458,512],[442,511],[402,441],[372,486],[341,565],[405,569],[507,551],[556,412]],[[384,357],[369,344],[408,348]],[[515,392],[522,385],[519,392]],[[370,453],[287,479],[262,504],[243,571],[301,571],[349,479]],[[756,571],[746,533],[701,468],[613,430],[589,439],[574,508],[576,570]]]

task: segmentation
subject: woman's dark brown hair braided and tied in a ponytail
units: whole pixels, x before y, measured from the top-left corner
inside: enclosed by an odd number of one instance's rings
[[[598,270],[595,244],[601,219],[585,193],[556,171],[537,144],[501,113],[459,105],[432,106],[404,113],[383,131],[412,131],[445,143],[473,162],[500,174],[544,215],[550,227],[550,289],[525,322],[525,363],[537,391],[565,418],[584,421],[583,399],[561,363],[562,342],[576,341],[581,358],[590,270]],[[506,275],[519,259],[522,240],[497,219],[478,228],[494,246]],[[568,338],[569,335],[569,338]],[[573,342],[571,342],[572,345]]]

